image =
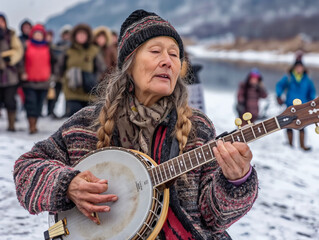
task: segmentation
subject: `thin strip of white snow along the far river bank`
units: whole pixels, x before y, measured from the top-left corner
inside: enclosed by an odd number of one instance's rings
[[[220,59],[232,61],[246,61],[265,64],[292,64],[295,53],[280,54],[276,51],[236,51],[236,50],[208,50],[206,45],[188,46],[187,51],[204,59]],[[319,67],[319,54],[307,53],[303,56],[303,62],[309,67]]]

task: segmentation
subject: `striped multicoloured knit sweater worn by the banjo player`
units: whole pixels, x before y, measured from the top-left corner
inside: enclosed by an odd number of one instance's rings
[[[15,163],[14,180],[21,205],[31,214],[42,211],[58,212],[74,207],[66,197],[71,180],[79,173],[72,165],[85,154],[96,149],[96,127],[99,107],[87,107],[69,118],[48,139],[38,142],[30,152]],[[176,115],[176,114],[175,114]],[[176,116],[164,126],[173,131]],[[193,110],[185,152],[203,145],[215,137],[211,121],[203,113]],[[169,158],[171,134],[162,141],[162,161]],[[112,145],[120,146],[117,131]],[[153,152],[158,149],[153,149]],[[195,239],[231,239],[226,229],[252,207],[258,190],[255,170],[239,187],[229,183],[216,161],[207,163],[178,178],[170,187],[170,208]],[[159,236],[164,239],[164,236]]]

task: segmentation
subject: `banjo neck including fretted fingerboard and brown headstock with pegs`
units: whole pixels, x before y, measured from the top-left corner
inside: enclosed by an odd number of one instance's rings
[[[316,124],[316,133],[319,134],[318,106],[319,97],[304,104],[301,104],[299,99],[295,99],[293,106],[288,107],[283,113],[276,117],[264,120],[257,124],[252,124],[248,120],[248,125],[245,125],[242,128],[239,127],[238,130],[235,130],[230,134],[225,134],[201,147],[149,169],[153,186],[160,186],[199,166],[216,161],[213,148],[217,146],[217,140],[219,139],[223,142],[250,143],[280,129],[288,128],[300,130],[313,123]],[[241,122],[240,119],[239,121]]]

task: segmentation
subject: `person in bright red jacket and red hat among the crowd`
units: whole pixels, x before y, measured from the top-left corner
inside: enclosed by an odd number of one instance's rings
[[[33,26],[24,56],[25,71],[22,74],[22,87],[25,93],[25,109],[30,134],[38,131],[37,120],[41,116],[51,76],[51,54],[45,35],[44,26],[41,24]]]

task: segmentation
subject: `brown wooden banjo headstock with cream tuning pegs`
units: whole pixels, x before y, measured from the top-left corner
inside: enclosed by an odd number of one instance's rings
[[[294,105],[277,116],[277,119],[281,128],[302,129],[315,123],[316,132],[319,134],[319,97],[304,104],[295,99]]]

